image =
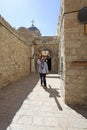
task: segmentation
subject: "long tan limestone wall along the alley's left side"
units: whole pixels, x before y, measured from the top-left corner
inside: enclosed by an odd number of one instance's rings
[[[0,17],[0,88],[30,73],[30,47]]]

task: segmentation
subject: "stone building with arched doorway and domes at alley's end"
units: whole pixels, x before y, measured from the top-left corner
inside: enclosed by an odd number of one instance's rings
[[[31,72],[37,72],[36,61],[40,55],[44,55],[47,57],[46,61],[49,72],[58,73],[57,36],[41,36],[40,30],[35,27],[34,24],[32,24],[28,29],[20,27],[17,32],[31,46]]]

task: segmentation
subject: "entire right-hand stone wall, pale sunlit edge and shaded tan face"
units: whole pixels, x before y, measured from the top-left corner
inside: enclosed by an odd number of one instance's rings
[[[87,65],[83,64],[87,61],[87,35],[84,34],[84,24],[78,20],[78,11],[87,5],[87,1],[62,0],[61,3],[63,15],[60,16],[58,34],[62,33],[60,58],[63,57],[65,102],[87,105]]]

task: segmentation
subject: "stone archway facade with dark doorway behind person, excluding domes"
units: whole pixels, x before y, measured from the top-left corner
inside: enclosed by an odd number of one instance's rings
[[[34,40],[34,54],[32,55],[35,59],[35,65],[39,53],[47,54],[47,63],[49,72],[58,72],[58,41],[57,37],[41,37]],[[37,70],[35,66],[35,70]]]

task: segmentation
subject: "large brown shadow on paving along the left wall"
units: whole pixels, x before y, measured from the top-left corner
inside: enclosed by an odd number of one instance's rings
[[[23,101],[38,82],[38,75],[28,77],[0,89],[0,130],[6,130]]]

